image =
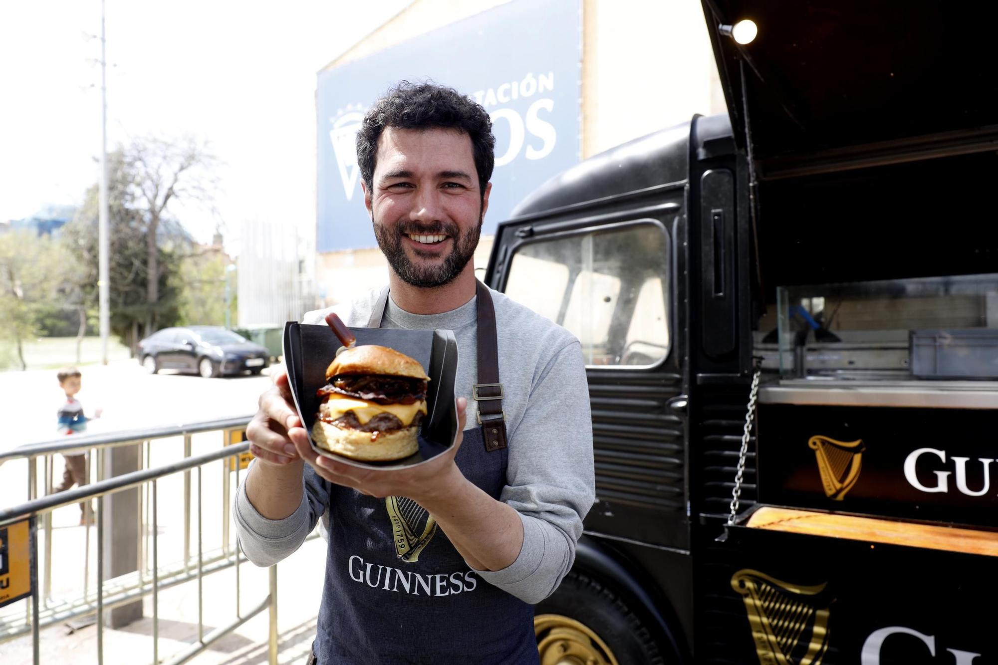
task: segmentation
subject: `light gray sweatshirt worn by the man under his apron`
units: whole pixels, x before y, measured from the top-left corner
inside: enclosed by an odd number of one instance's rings
[[[501,500],[523,521],[523,547],[502,570],[476,571],[487,582],[528,603],[558,587],[575,560],[582,520],[595,499],[593,432],[589,391],[579,340],[527,308],[492,291],[496,311],[499,373],[509,441],[506,487]],[[364,327],[379,291],[329,310],[310,312],[305,324],[323,324],[330,311],[347,326]],[[413,315],[388,299],[381,328],[454,332],[458,344],[457,396],[468,399],[466,429],[478,426],[475,298],[439,315]],[[323,516],[325,492],[307,464],[298,509],[269,520],[250,503],[245,487],[236,495],[235,520],[243,551],[265,566],[296,550]]]

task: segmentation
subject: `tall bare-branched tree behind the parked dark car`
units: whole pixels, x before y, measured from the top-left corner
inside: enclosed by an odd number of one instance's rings
[[[145,333],[156,331],[156,304],[160,299],[160,224],[171,203],[200,202],[210,206],[218,180],[218,160],[208,146],[193,138],[171,142],[155,137],[134,141],[125,149],[126,170],[132,175],[133,202],[146,221],[146,301],[150,308]]]

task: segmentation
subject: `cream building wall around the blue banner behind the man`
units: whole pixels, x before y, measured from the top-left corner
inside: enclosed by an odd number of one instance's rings
[[[349,66],[508,1],[415,0],[326,67]],[[686,122],[695,113],[725,112],[698,0],[581,0],[581,6],[583,159]],[[484,275],[492,241],[483,238],[475,255],[479,276]],[[318,255],[318,302],[333,305],[386,284],[386,271],[376,248]]]

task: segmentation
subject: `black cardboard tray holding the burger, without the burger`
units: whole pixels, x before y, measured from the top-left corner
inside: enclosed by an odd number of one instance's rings
[[[378,344],[394,348],[419,361],[429,374],[426,389],[427,414],[419,431],[419,450],[390,462],[365,462],[338,455],[315,445],[312,425],[318,412],[316,391],[326,384],[325,369],[341,346],[328,326],[284,325],[283,353],[287,382],[301,421],[308,432],[312,450],[353,466],[378,469],[410,468],[421,464],[454,445],[458,432],[457,401],[454,379],[457,374],[457,340],[451,331],[403,331],[374,328],[351,328],[356,345]]]

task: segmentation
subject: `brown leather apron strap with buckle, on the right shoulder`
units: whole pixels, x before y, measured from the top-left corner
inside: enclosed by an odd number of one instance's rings
[[[475,281],[478,310],[478,382],[471,396],[478,402],[478,423],[482,425],[485,451],[506,447],[506,415],[502,410],[502,383],[499,382],[499,345],[496,338],[496,311],[489,289]]]

